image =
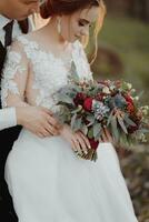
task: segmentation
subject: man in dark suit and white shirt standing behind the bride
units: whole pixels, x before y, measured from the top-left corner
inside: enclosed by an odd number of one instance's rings
[[[31,30],[28,16],[39,10],[40,2],[40,0],[0,0],[0,77],[7,47],[14,37]],[[34,107],[0,109],[0,220],[3,219],[4,222],[18,221],[3,175],[6,159],[20,132],[20,127],[14,127],[17,124],[41,137],[58,134],[57,121],[47,109]],[[46,125],[49,125],[49,129],[46,130]],[[6,129],[10,127],[13,128]]]

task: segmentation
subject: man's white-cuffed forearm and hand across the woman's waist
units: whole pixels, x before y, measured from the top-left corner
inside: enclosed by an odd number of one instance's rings
[[[3,108],[0,110],[0,130],[20,124],[39,137],[48,137],[50,133],[44,132],[44,129],[51,119],[51,112],[46,108],[31,105]],[[54,123],[54,120],[52,121]]]

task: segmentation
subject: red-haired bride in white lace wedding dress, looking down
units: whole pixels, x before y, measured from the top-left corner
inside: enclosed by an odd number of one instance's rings
[[[68,83],[73,61],[80,80],[91,79],[82,44],[89,27],[103,19],[102,0],[48,0],[49,23],[21,36],[9,50],[3,70],[3,107],[58,107],[54,93]],[[39,138],[22,129],[6,163],[6,180],[19,222],[137,222],[112,144],[102,137],[98,161],[88,139],[62,125],[60,134]]]

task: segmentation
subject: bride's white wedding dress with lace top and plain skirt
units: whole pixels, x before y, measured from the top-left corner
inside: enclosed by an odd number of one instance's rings
[[[92,78],[81,43],[68,48],[71,59],[57,58],[30,36],[19,37],[3,70],[3,107],[28,102],[54,112],[54,93],[68,83],[71,60],[80,79]],[[19,222],[137,222],[110,143],[100,143],[98,161],[91,162],[77,158],[61,137],[40,139],[22,129],[6,180]]]

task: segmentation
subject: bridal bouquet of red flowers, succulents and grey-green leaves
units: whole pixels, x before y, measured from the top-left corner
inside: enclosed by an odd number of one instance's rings
[[[91,149],[83,159],[96,161],[99,138],[106,127],[113,141],[130,148],[137,141],[146,142],[149,107],[141,107],[139,95],[125,81],[79,80],[73,64],[70,83],[58,92],[60,111],[57,117],[73,131],[82,131]]]

